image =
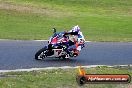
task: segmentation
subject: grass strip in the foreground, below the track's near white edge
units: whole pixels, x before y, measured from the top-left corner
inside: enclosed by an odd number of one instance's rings
[[[130,74],[131,69],[96,67],[86,69],[87,74]],[[76,82],[77,69],[57,69],[31,72],[2,73],[0,88],[80,88]],[[12,76],[12,77],[11,77]],[[132,84],[85,84],[81,88],[128,88]]]

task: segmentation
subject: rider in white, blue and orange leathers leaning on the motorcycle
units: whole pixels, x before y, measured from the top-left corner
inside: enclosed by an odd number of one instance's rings
[[[69,47],[67,49],[68,52],[70,52],[69,51],[71,49],[70,46],[73,45],[75,46],[75,49],[74,49],[75,52],[73,53],[73,55],[78,56],[79,52],[84,47],[84,43],[85,43],[85,39],[82,32],[80,31],[80,27],[76,25],[69,32],[66,32],[64,35],[71,35],[69,38]]]

